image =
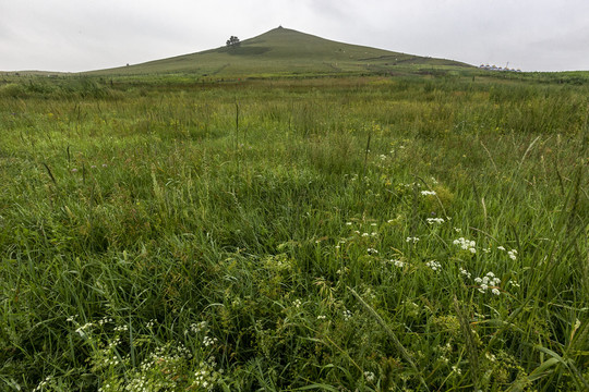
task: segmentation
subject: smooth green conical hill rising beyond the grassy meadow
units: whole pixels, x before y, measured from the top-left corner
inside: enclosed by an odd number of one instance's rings
[[[407,69],[470,66],[452,60],[424,58],[337,42],[278,27],[241,41],[197,53],[149,61],[91,74],[193,73],[201,76],[265,76],[396,72]]]

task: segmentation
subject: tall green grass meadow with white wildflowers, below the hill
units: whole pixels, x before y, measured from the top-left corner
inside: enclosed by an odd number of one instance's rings
[[[5,76],[0,390],[588,390],[584,77]]]

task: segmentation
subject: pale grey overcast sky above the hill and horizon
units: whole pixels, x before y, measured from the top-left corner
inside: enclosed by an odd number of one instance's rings
[[[0,0],[0,70],[136,64],[278,25],[473,65],[589,70],[589,0]]]

